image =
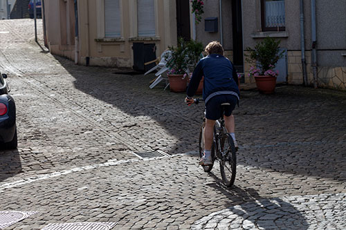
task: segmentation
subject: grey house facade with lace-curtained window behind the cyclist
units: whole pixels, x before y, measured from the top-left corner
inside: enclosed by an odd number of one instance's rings
[[[285,51],[277,68],[280,82],[346,89],[346,1],[205,0],[196,38],[217,40],[226,55],[244,71],[246,47],[265,37],[280,39]],[[302,5],[301,5],[302,3]],[[206,19],[217,17],[217,32],[206,32]],[[306,73],[306,74],[304,74]]]

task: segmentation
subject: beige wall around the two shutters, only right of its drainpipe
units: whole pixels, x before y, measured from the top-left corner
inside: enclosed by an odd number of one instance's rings
[[[175,1],[154,0],[154,3],[156,36],[138,37],[136,0],[120,0],[121,36],[111,39],[104,37],[104,0],[79,3],[80,62],[86,64],[89,57],[92,66],[131,68],[134,42],[156,44],[157,57],[167,46],[176,44]]]

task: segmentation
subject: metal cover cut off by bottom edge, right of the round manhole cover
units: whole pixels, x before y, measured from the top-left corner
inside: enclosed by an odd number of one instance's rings
[[[109,230],[116,226],[114,222],[78,222],[48,224],[42,230]]]

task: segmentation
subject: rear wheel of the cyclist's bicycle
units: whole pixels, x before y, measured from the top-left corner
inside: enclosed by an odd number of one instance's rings
[[[235,144],[233,138],[228,133],[223,135],[220,140],[221,159],[220,171],[222,180],[226,186],[232,186],[235,183],[235,173],[237,172],[237,157],[235,155]]]

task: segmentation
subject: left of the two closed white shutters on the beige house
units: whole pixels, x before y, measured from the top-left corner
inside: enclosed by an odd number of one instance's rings
[[[120,37],[119,0],[104,0],[104,37]]]

